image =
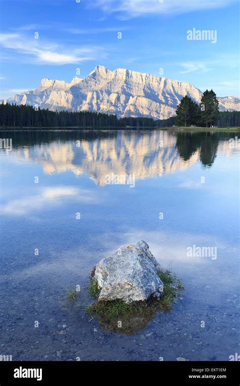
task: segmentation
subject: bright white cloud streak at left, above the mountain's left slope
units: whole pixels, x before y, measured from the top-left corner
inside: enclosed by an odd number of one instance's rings
[[[19,33],[1,34],[0,46],[15,54],[25,55],[27,61],[43,65],[66,65],[93,60],[104,55],[101,47],[70,48],[41,39],[26,38]]]

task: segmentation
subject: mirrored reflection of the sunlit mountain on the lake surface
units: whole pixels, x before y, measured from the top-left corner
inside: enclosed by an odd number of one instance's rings
[[[219,151],[233,151],[227,138],[234,133],[84,130],[15,131],[8,136],[13,153],[41,165],[46,174],[87,173],[103,186],[111,172],[142,180],[186,170],[197,162],[211,167]]]

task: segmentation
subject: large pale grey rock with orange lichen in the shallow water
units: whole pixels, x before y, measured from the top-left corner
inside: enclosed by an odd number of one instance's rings
[[[160,269],[145,241],[123,245],[97,264],[94,275],[92,272],[101,288],[98,300],[132,303],[159,298],[163,294],[163,282],[157,274]]]

